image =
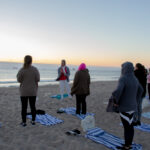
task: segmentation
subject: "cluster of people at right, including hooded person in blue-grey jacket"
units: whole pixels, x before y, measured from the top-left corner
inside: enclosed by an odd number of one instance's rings
[[[132,149],[134,126],[141,125],[142,101],[146,96],[146,87],[150,100],[150,73],[137,63],[135,68],[131,62],[122,64],[121,77],[116,90],[112,93],[114,106],[118,107],[124,127],[125,144],[117,149]]]

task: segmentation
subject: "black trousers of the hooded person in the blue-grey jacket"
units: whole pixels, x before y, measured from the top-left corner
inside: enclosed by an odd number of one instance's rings
[[[121,121],[124,127],[124,138],[125,138],[125,145],[130,146],[132,145],[133,137],[134,137],[134,127],[133,125],[129,124],[128,121],[121,117]]]

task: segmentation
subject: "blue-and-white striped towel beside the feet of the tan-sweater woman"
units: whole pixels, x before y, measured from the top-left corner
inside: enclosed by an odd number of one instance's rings
[[[27,118],[32,119],[32,115],[27,115]],[[51,115],[45,114],[45,115],[36,115],[35,122],[41,123],[42,125],[51,126],[62,123],[63,121]]]

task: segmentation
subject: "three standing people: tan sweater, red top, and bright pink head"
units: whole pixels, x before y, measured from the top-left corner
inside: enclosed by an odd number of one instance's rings
[[[86,65],[82,63],[78,71],[75,74],[73,86],[70,89],[69,86],[70,70],[66,66],[66,61],[61,61],[61,66],[58,68],[58,77],[56,81],[59,81],[61,99],[64,97],[64,91],[66,89],[68,97],[72,98],[76,95],[76,113],[86,114],[86,96],[89,95],[90,90],[90,75],[86,68]],[[27,55],[24,57],[24,65],[17,74],[17,81],[20,83],[20,99],[21,99],[21,116],[22,126],[26,126],[26,114],[28,101],[31,108],[32,121],[31,124],[35,125],[36,118],[36,97],[38,91],[38,82],[40,81],[40,73],[38,69],[32,66],[32,57]]]

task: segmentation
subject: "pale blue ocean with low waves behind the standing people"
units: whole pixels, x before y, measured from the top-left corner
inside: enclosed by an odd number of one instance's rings
[[[0,87],[19,86],[16,75],[22,67],[22,63],[0,62]],[[41,81],[39,85],[58,84],[57,69],[59,65],[33,64],[40,72]],[[68,65],[70,68],[70,81],[73,81],[78,66]],[[120,77],[119,67],[93,67],[87,66],[91,76],[91,81],[117,81]]]

